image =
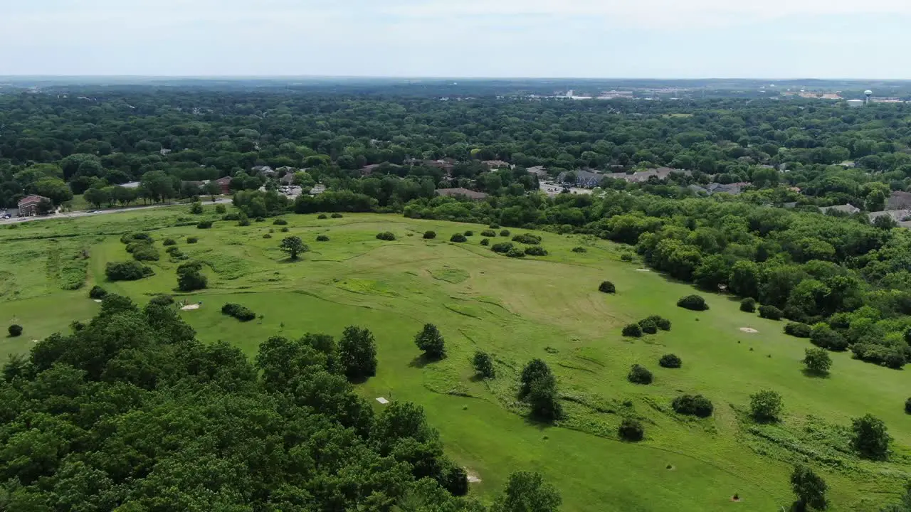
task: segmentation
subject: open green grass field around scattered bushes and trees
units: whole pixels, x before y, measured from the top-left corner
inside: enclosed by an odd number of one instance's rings
[[[214,219],[211,207],[207,216]],[[909,374],[834,353],[829,378],[805,376],[800,360],[810,345],[784,335],[783,323],[740,312],[722,295],[703,293],[708,312],[682,310],[675,302],[691,287],[620,261],[629,248],[541,232],[548,256],[509,259],[480,245],[486,226],[392,215],[289,215],[287,234],[271,220],[174,227],[198,219],[176,207],[0,229],[0,308],[8,323],[26,328],[19,338],[0,340],[0,355],[26,351],[32,340],[91,317],[97,310],[87,298],[92,284],[138,302],[156,293],[202,302],[182,313],[200,340],[224,340],[251,355],[272,335],[338,336],[346,325],[362,325],[373,331],[379,352],[378,374],[359,386],[364,397],[377,407],[378,396],[423,405],[449,455],[482,479],[473,492],[484,496],[510,472],[535,470],[558,486],[568,511],[780,510],[793,501],[788,476],[796,462],[826,478],[831,510],[878,510],[902,490],[911,468],[911,419],[903,409]],[[162,256],[151,264],[156,275],[105,282],[107,261],[129,259],[120,234],[134,230],[151,230],[156,240]],[[376,240],[384,230],[397,240]],[[424,240],[425,230],[435,230],[437,239]],[[475,236],[448,241],[464,230]],[[330,241],[315,241],[318,234]],[[287,261],[278,250],[288,235],[310,245],[301,261]],[[188,236],[199,243],[188,244]],[[168,237],[205,264],[208,290],[175,292],[180,261],[169,261],[160,246]],[[576,246],[588,251],[571,251]],[[64,290],[74,266],[85,283]],[[615,295],[598,292],[604,280],[616,284]],[[239,323],[220,314],[225,302],[261,318]],[[620,335],[624,324],[650,314],[669,318],[671,331],[637,340]],[[447,357],[440,362],[419,357],[414,335],[424,323],[435,323],[445,336]],[[494,355],[495,380],[473,378],[470,357],[477,349]],[[681,356],[682,368],[661,368],[663,353]],[[567,412],[558,425],[529,421],[515,399],[517,376],[535,357],[558,376]],[[648,367],[654,384],[630,384],[631,364]],[[749,395],[763,388],[783,395],[779,425],[746,419]],[[711,418],[672,412],[670,401],[691,392],[711,399]],[[895,439],[889,462],[860,460],[847,447],[845,426],[868,412]],[[618,440],[625,415],[642,420],[644,441]],[[732,501],[734,494],[740,502]]]

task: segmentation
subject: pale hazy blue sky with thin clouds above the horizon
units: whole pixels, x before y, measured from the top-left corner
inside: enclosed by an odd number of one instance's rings
[[[0,0],[0,75],[911,78],[911,0]]]

